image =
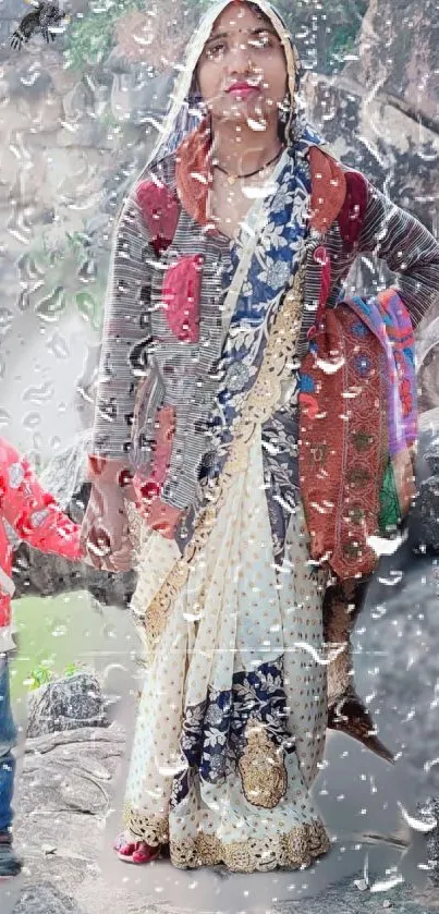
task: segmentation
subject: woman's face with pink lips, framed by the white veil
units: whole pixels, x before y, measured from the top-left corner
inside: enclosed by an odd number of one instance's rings
[[[247,3],[230,3],[214,24],[197,77],[202,97],[217,120],[278,119],[288,85],[280,38]]]

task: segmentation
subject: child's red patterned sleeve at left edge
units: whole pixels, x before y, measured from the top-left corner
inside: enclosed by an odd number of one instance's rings
[[[81,527],[46,492],[28,462],[0,438],[1,513],[17,535],[41,552],[56,552],[72,561],[82,558]]]

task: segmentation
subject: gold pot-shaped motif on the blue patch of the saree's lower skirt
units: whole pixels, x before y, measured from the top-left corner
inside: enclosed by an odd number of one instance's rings
[[[253,806],[273,809],[286,792],[286,768],[282,747],[276,746],[266,728],[249,721],[246,745],[237,767],[245,799]]]

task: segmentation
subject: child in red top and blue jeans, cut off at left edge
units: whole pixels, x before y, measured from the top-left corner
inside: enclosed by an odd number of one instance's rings
[[[12,546],[4,521],[21,539],[42,552],[56,552],[72,561],[82,558],[80,527],[41,489],[26,460],[0,438],[0,880],[21,870],[11,834],[15,769],[12,750],[16,729],[11,711],[8,653],[14,648],[11,635],[14,585]]]

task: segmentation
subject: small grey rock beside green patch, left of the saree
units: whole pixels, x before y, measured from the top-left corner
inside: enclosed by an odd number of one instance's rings
[[[76,673],[41,685],[29,693],[28,708],[28,736],[108,726],[100,685],[90,673]]]

